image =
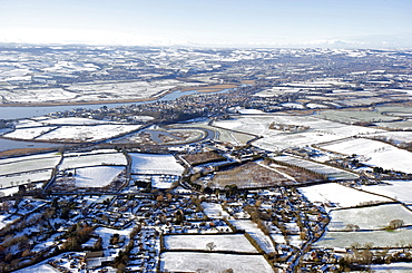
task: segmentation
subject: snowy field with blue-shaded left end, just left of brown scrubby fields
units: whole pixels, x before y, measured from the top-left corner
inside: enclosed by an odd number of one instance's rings
[[[130,153],[133,174],[182,175],[185,168],[173,155]]]

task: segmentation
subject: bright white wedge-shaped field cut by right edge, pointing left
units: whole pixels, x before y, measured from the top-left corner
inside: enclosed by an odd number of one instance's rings
[[[385,183],[390,185],[362,186],[362,189],[412,204],[412,181],[385,181]]]

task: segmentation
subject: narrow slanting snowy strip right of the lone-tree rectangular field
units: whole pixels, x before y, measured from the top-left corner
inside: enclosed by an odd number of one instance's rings
[[[266,254],[276,252],[269,236],[266,236],[262,230],[257,227],[256,223],[253,223],[251,220],[229,220],[229,222],[237,230],[245,230]]]

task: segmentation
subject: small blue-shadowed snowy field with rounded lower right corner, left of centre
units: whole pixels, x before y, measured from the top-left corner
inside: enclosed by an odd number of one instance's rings
[[[77,187],[104,187],[109,185],[125,169],[121,166],[96,166],[77,168],[75,184]]]

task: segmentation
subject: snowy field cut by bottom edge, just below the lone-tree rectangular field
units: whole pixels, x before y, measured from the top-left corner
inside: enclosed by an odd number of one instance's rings
[[[219,253],[165,252],[160,256],[161,272],[273,272],[262,255]]]

